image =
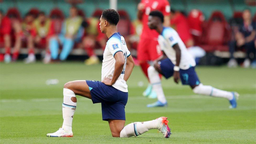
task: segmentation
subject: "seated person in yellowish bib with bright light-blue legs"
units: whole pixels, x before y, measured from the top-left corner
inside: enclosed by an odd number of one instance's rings
[[[51,58],[56,60],[58,58],[59,43],[63,45],[60,53],[60,60],[66,60],[70,54],[75,41],[81,41],[84,33],[82,27],[83,18],[78,16],[78,9],[76,7],[70,8],[70,17],[62,24],[61,33],[51,36],[49,39],[49,48],[51,51]],[[51,30],[54,31],[54,30]]]

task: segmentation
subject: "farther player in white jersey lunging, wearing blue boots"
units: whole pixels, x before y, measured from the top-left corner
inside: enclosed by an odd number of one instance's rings
[[[163,26],[163,14],[161,12],[152,11],[149,14],[148,26],[159,33],[158,43],[163,56],[155,60],[153,66],[148,68],[148,77],[153,90],[157,93],[158,101],[148,104],[147,107],[167,105],[159,77],[159,73],[161,73],[165,78],[173,76],[175,83],[178,83],[180,79],[183,85],[189,85],[196,94],[226,98],[231,104],[230,108],[236,108],[238,93],[227,92],[200,83],[195,72],[194,58],[189,54],[178,33],[170,27]]]

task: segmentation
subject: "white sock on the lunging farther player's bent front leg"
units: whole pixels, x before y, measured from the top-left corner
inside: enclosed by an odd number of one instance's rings
[[[165,104],[166,98],[164,96],[161,79],[159,77],[159,73],[155,70],[153,66],[148,67],[148,79],[153,87],[153,90],[157,93],[157,99],[161,103]]]

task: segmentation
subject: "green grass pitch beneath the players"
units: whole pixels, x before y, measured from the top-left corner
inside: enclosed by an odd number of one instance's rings
[[[100,80],[101,65],[1,63],[1,143],[255,143],[255,69],[197,67],[196,71],[205,85],[237,91],[237,109],[229,109],[226,99],[195,95],[172,78],[163,78],[162,83],[168,107],[146,108],[156,100],[141,96],[147,79],[135,67],[127,82],[126,124],[166,116],[172,129],[169,139],[157,130],[138,137],[113,138],[108,122],[102,121],[101,105],[80,96],[73,119],[74,137],[56,138],[46,134],[62,126],[63,85],[73,80]],[[58,79],[59,83],[46,85],[47,79]]]

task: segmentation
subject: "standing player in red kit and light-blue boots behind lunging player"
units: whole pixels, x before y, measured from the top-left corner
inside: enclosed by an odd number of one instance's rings
[[[141,0],[137,6],[137,18],[142,22],[142,33],[137,47],[137,59],[140,67],[148,78],[147,69],[150,66],[148,62],[156,60],[162,55],[158,45],[158,33],[151,30],[148,23],[148,15],[153,10],[159,10],[164,15],[164,26],[170,25],[170,4],[167,0]],[[152,86],[149,84],[143,92],[145,97],[156,98],[156,93],[152,92]]]

